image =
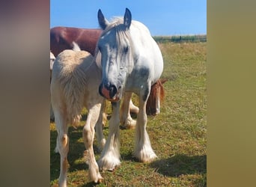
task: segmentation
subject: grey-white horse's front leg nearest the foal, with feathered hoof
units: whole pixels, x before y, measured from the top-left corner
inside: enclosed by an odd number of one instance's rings
[[[121,164],[119,153],[119,102],[112,102],[113,113],[109,120],[109,137],[107,138],[100,160],[99,167],[102,170],[112,171],[116,166]]]

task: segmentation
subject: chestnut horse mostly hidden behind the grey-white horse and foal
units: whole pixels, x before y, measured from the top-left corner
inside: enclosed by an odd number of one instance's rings
[[[102,29],[97,28],[54,27],[50,30],[50,50],[57,57],[65,49],[73,49],[73,42],[75,42],[81,50],[88,51],[91,55],[94,55],[97,40],[100,38],[101,33]],[[158,81],[151,86],[149,102],[147,102],[147,114],[159,114],[160,101],[164,96],[162,84]],[[132,102],[130,102],[129,107],[132,112],[138,113],[138,108]],[[135,122],[132,123],[135,124]],[[124,122],[121,121],[121,124],[123,125]],[[132,126],[124,127],[132,128]]]

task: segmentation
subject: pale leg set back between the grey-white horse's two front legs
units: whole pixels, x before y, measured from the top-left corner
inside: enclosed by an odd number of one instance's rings
[[[132,92],[124,93],[124,99],[121,106],[121,126],[123,126],[126,129],[134,129],[136,125],[136,121],[132,120],[132,117],[129,114],[129,107],[133,105],[131,97]]]

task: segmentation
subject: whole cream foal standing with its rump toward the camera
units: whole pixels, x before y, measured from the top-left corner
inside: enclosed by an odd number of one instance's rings
[[[94,134],[103,146],[102,120],[104,98],[98,93],[101,70],[94,57],[85,51],[64,50],[55,59],[52,68],[51,99],[58,132],[55,151],[61,155],[59,186],[67,186],[67,153],[69,151],[68,125],[76,125],[81,118],[82,108],[88,109],[88,117],[82,130],[85,157],[89,165],[89,177],[95,183],[103,180],[94,157]]]

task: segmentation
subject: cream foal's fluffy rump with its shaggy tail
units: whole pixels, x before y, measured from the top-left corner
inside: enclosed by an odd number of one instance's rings
[[[55,59],[51,91],[53,95],[62,97],[62,102],[71,108],[68,113],[76,116],[82,105],[86,106],[92,99],[101,101],[96,87],[97,83],[100,84],[100,79],[100,70],[89,52],[66,49]],[[78,108],[73,112],[73,107]]]

